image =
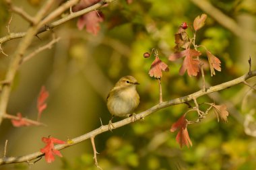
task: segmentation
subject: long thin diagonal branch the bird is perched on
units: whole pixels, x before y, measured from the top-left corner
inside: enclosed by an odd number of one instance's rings
[[[197,97],[201,97],[203,95],[207,95],[209,93],[214,93],[216,91],[221,91],[223,89],[226,89],[228,87],[232,87],[234,85],[238,85],[240,83],[243,83],[243,81],[246,81],[247,79],[251,78],[251,77],[255,77],[256,76],[256,70],[251,72],[251,75],[245,74],[241,77],[238,77],[237,79],[233,79],[232,81],[227,81],[226,83],[222,83],[220,85],[215,85],[210,87],[209,89],[207,89],[207,91],[197,91],[195,93],[192,93],[190,95],[186,95],[184,97],[179,97],[177,99],[172,99],[169,101],[163,101],[162,103],[158,103],[157,105],[154,105],[152,108],[143,111],[137,115],[135,115],[136,119],[135,120],[131,120],[131,118],[125,118],[119,122],[115,122],[113,123],[113,125],[115,126],[115,128],[120,128],[121,126],[125,126],[127,124],[130,124],[131,122],[143,119],[144,117],[158,111],[161,110],[163,108],[167,108],[171,105],[178,105],[181,103],[186,103],[187,101],[191,101]],[[83,142],[84,140],[87,140],[89,138],[92,138],[92,136],[97,136],[98,134],[102,134],[103,132],[107,132],[109,131],[108,125],[103,125],[100,126],[100,128],[97,128],[95,130],[92,130],[91,132],[88,132],[86,134],[83,134],[82,136],[78,136],[77,138],[73,138],[71,139],[71,142],[68,142],[67,144],[57,144],[55,146],[55,149],[57,150],[61,150],[63,148],[67,148],[69,146],[72,146],[74,144],[77,144],[79,142]],[[44,156],[44,154],[40,153],[40,152],[36,152],[36,153],[32,153],[30,155],[24,155],[24,156],[20,156],[20,157],[2,157],[0,159],[0,165],[3,164],[9,164],[9,163],[21,163],[21,162],[29,162],[32,161],[33,159],[37,159],[39,157]]]

